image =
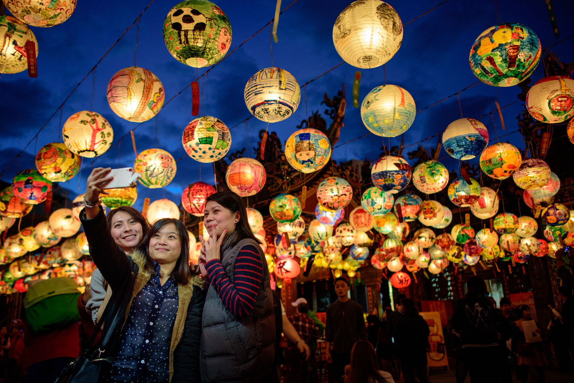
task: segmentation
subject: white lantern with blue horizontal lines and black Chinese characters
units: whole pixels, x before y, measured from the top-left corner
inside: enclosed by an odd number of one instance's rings
[[[297,110],[301,90],[291,73],[272,67],[261,69],[247,80],[243,98],[247,109],[256,118],[265,122],[279,122]],[[329,146],[329,153],[330,149]]]

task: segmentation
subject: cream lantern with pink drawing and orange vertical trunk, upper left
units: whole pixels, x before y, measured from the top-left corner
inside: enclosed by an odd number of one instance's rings
[[[144,122],[164,105],[164,85],[148,69],[124,68],[111,77],[107,101],[115,114],[129,122]]]

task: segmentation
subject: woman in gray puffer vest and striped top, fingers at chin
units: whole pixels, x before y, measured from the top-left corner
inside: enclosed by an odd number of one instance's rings
[[[275,353],[275,316],[260,242],[247,222],[241,197],[235,193],[208,197],[203,222],[210,237],[199,237],[199,267],[210,286],[201,325],[201,380],[265,382]],[[176,372],[185,369],[187,354],[188,350],[180,347]]]

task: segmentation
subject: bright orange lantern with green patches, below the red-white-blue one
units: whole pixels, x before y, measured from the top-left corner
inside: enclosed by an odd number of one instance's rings
[[[509,178],[522,163],[520,151],[509,143],[497,142],[488,146],[480,154],[480,169],[488,177]]]

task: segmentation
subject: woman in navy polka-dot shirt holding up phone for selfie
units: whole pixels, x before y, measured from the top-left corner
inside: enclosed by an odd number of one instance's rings
[[[117,310],[120,313],[111,346],[102,355],[113,361],[103,369],[101,378],[169,382],[185,374],[197,381],[205,290],[199,276],[189,268],[187,230],[179,220],[158,220],[126,257],[107,229],[103,210],[91,202],[98,201],[99,194],[108,194],[103,187],[111,181],[109,172],[103,168],[92,171],[84,197],[86,209],[80,212],[90,254],[113,291],[103,334],[107,334]],[[174,353],[182,334],[195,363],[174,374]]]

